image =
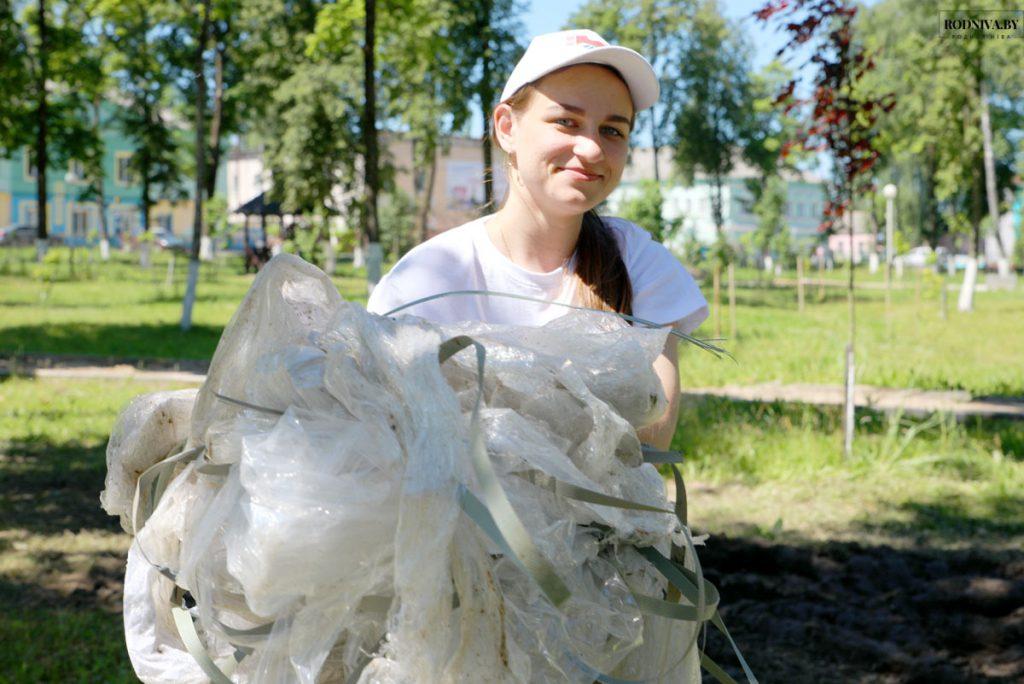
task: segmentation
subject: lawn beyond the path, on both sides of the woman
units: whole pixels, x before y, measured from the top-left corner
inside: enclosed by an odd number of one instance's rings
[[[157,253],[154,266],[142,270],[133,255],[116,254],[108,264],[90,265],[83,252],[74,276],[67,250],[54,250],[52,263],[44,266],[28,257],[28,252],[11,250],[0,254],[0,353],[206,359],[253,279],[241,272],[238,257],[204,264],[195,327],[182,333],[177,324],[183,260],[168,285],[164,253]],[[843,281],[840,271],[826,276]],[[346,264],[335,283],[346,299],[365,302],[362,277]],[[800,312],[795,288],[758,285],[757,273],[750,270],[737,277],[745,284],[736,293],[737,334],[722,342],[735,362],[685,350],[683,385],[841,383],[847,335],[844,291],[809,287],[807,305]],[[881,283],[880,275],[866,271],[858,277],[874,286]],[[942,282],[931,272],[907,271],[888,310],[882,290],[858,294],[857,382],[1024,395],[1024,293],[979,292],[975,311],[961,313],[956,293],[950,292],[943,317],[938,295]],[[703,289],[711,299],[710,284]],[[729,335],[725,310],[722,330]],[[697,331],[701,337],[714,334],[713,319]]]

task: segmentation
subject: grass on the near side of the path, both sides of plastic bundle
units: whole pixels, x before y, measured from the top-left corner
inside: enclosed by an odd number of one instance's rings
[[[104,444],[133,381],[0,381],[0,672],[5,681],[132,681],[120,617],[128,538],[98,503]],[[833,411],[684,407],[694,526],[807,543],[1020,549],[1024,424]]]

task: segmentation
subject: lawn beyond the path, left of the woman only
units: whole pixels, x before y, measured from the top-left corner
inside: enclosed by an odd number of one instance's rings
[[[238,256],[204,263],[193,329],[184,333],[178,322],[187,261],[180,256],[168,283],[165,252],[155,251],[153,266],[142,269],[135,255],[89,264],[79,250],[74,275],[67,249],[52,250],[43,265],[0,252],[0,353],[208,359],[255,277],[242,272]],[[366,302],[365,275],[350,264],[338,272],[342,295]]]

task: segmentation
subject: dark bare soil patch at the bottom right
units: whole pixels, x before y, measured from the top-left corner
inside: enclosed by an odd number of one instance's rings
[[[717,537],[700,558],[762,682],[1024,681],[1024,554]]]

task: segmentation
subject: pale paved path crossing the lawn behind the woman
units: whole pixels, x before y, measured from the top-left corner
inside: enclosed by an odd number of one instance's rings
[[[24,375],[36,378],[80,380],[144,380],[202,384],[205,361],[154,361],[108,359],[84,356],[0,356],[0,376]],[[683,390],[683,398],[720,396],[734,401],[784,401],[814,405],[843,405],[841,385],[761,384],[697,387]],[[877,411],[902,411],[908,415],[936,412],[957,418],[1024,419],[1024,398],[972,397],[963,390],[937,391],[857,385],[857,407]]]

